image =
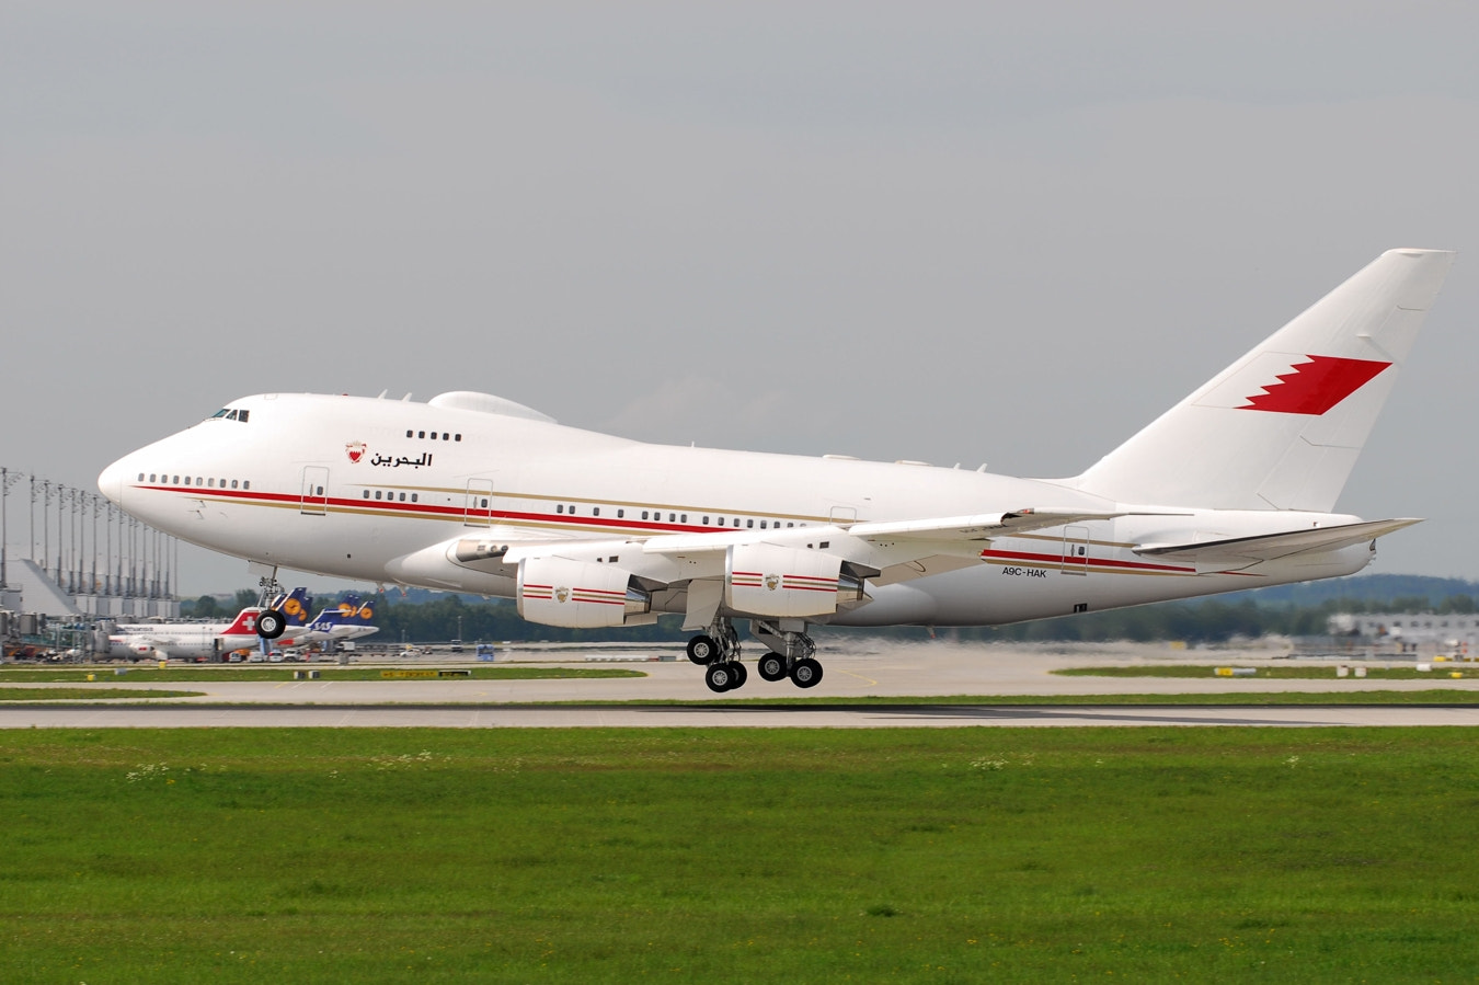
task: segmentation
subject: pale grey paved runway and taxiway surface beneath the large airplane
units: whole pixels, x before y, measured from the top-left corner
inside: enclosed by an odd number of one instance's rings
[[[599,654],[609,655],[609,654]],[[521,654],[529,658],[531,654]],[[538,655],[532,655],[538,657]],[[544,654],[571,666],[592,666],[586,654]],[[855,705],[716,705],[700,668],[685,661],[620,663],[643,677],[569,680],[293,680],[180,682],[201,697],[120,705],[6,704],[0,728],[285,728],[285,726],[729,726],[729,728],[951,728],[1083,725],[1479,725],[1479,705],[905,705],[902,695],[1112,695],[1248,694],[1279,691],[1412,691],[1479,688],[1479,671],[1464,679],[1449,671],[1423,680],[1328,677],[1269,680],[1250,677],[1065,677],[1052,670],[1092,664],[1197,663],[1287,666],[1268,652],[1173,652],[1160,646],[1094,649],[998,645],[859,642],[825,654],[825,677],[810,692],[790,682],[768,683],[751,673],[732,697],[858,698]],[[404,666],[404,664],[399,664]],[[1473,677],[1467,674],[1475,674]],[[77,685],[55,685],[70,686]],[[151,689],[170,685],[99,674],[99,688]],[[46,685],[37,685],[44,689]],[[629,705],[549,705],[553,701],[630,701]],[[640,704],[677,701],[682,704]],[[864,704],[862,701],[867,701]]]

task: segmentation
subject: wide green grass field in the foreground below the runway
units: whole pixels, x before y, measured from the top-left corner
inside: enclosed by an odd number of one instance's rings
[[[1469,729],[0,732],[4,982],[1467,982]]]

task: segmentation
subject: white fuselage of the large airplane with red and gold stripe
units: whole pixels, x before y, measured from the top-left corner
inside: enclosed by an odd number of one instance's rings
[[[1052,504],[1140,513],[994,537],[955,569],[868,587],[840,626],[997,624],[1302,581],[1364,568],[1365,543],[1208,571],[1146,543],[1214,541],[1356,518],[1126,504],[1062,482],[913,463],[652,445],[537,416],[324,395],[259,395],[109,467],[104,491],[183,540],[268,565],[513,598],[512,569],[417,561],[456,538],[630,541],[846,529]],[[778,535],[778,534],[776,534]],[[673,593],[657,611],[683,611]]]

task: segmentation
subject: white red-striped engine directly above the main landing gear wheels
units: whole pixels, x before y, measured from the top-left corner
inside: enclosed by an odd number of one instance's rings
[[[842,558],[827,550],[776,544],[735,544],[725,571],[725,605],[747,615],[806,618],[833,615],[839,587],[853,600],[862,586],[842,578]]]

